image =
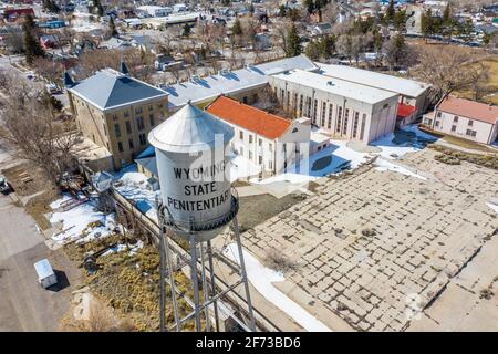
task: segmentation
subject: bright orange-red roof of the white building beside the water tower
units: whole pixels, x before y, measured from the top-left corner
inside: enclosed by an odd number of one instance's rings
[[[291,125],[289,119],[251,107],[226,96],[216,98],[207,107],[207,111],[224,121],[269,139],[280,137]]]

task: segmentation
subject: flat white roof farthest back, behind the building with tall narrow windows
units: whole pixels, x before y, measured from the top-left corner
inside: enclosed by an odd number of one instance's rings
[[[382,74],[370,70],[363,70],[346,65],[332,65],[315,63],[320,67],[320,73],[335,79],[346,80],[376,88],[400,93],[404,96],[417,97],[429,85],[409,79]]]

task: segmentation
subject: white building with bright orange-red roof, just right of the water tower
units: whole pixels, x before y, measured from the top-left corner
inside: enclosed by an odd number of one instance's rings
[[[309,156],[309,118],[286,119],[227,96],[219,96],[206,110],[234,127],[232,150],[266,175],[286,171]]]

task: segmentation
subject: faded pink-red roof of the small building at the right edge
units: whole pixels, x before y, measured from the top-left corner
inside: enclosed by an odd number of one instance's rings
[[[443,100],[437,110],[490,124],[496,124],[498,119],[498,106],[454,96]]]

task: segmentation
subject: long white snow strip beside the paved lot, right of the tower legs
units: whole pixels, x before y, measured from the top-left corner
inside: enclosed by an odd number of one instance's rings
[[[291,316],[304,330],[309,332],[331,332],[331,330],[317,320],[317,317],[273,287],[272,283],[286,280],[281,272],[276,272],[274,270],[266,268],[246,250],[242,250],[242,252],[246,262],[247,277],[259,293]],[[226,257],[240,264],[236,243],[228,244],[224,249],[224,253]]]

